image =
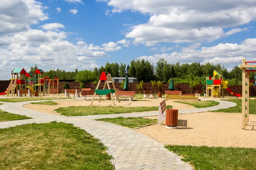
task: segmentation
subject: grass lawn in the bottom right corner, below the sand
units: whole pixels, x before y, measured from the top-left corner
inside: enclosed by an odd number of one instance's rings
[[[183,156],[195,170],[256,170],[256,149],[207,146],[165,146]]]

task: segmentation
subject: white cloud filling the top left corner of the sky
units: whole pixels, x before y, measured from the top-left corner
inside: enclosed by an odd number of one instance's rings
[[[42,3],[35,0],[1,0],[0,36],[26,31],[30,25],[47,20]]]

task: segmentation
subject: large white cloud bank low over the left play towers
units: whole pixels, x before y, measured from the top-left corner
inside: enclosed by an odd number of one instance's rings
[[[64,31],[28,29],[0,37],[0,79],[9,79],[9,72],[15,67],[30,67],[35,63],[41,68],[66,71],[93,69],[99,66],[95,59],[109,57],[106,51],[121,49],[114,42],[97,46],[80,41],[76,45],[66,40],[67,35]]]

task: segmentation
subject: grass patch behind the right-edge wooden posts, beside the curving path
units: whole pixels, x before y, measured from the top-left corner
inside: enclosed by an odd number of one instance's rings
[[[237,105],[232,108],[219,109],[213,112],[242,113],[242,99],[227,99],[225,101],[234,102]],[[249,106],[249,113],[256,114],[256,99],[250,99]]]

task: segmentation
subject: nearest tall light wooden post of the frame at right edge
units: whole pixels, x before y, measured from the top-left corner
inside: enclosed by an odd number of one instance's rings
[[[245,65],[245,58],[243,58],[243,62],[242,62],[243,65]],[[245,114],[246,114],[246,111],[245,111],[245,106],[246,106],[246,102],[245,102],[245,99],[246,99],[246,94],[245,94],[245,90],[246,90],[246,68],[242,68],[242,129],[245,129]]]

